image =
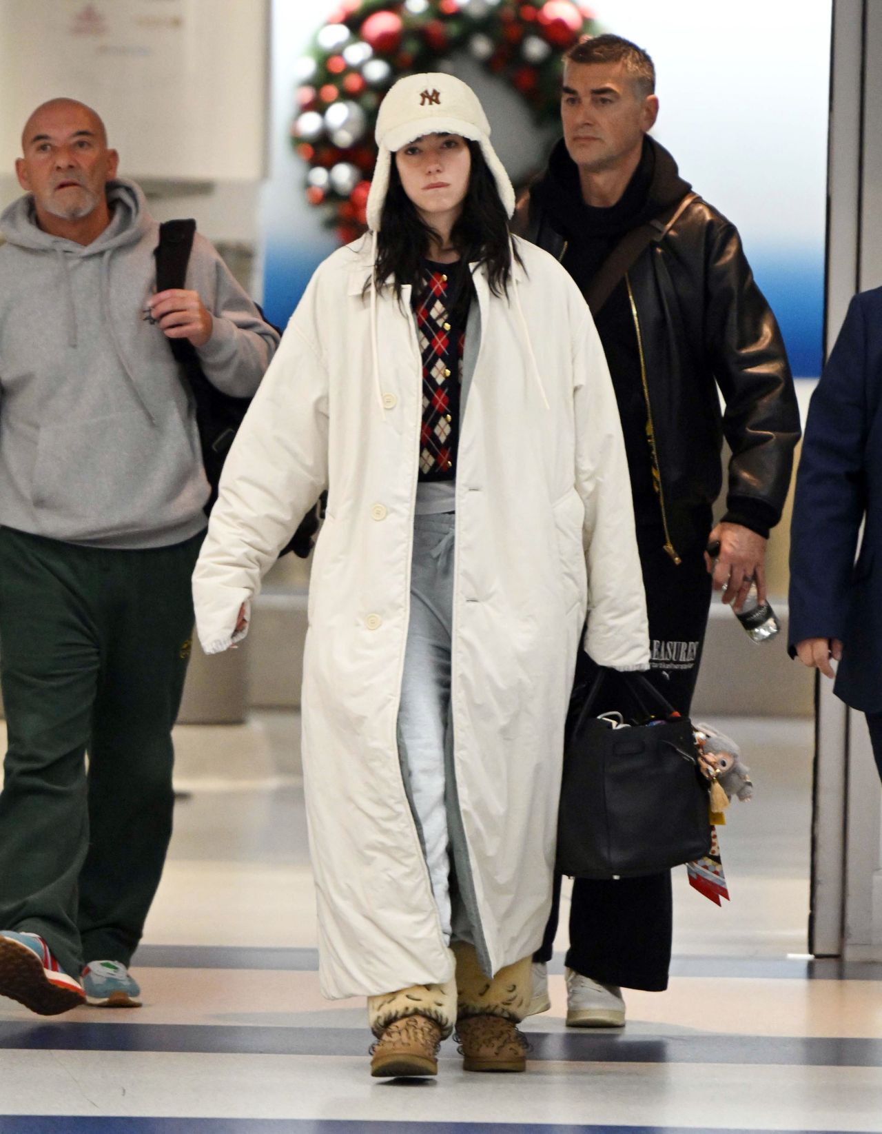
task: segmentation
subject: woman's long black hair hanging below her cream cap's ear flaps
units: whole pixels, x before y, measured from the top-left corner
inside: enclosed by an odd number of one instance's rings
[[[450,243],[459,253],[459,260],[450,265],[455,296],[452,313],[463,318],[468,312],[473,295],[470,263],[485,265],[493,295],[508,295],[511,274],[508,218],[495,178],[480,144],[469,138],[464,141],[472,154],[472,169],[463,211],[450,232]],[[380,217],[380,231],[376,234],[376,287],[381,288],[391,276],[399,303],[405,285],[410,284],[415,294],[417,289],[422,289],[430,242],[438,236],[432,226],[419,217],[413,201],[405,193],[392,154],[389,189]],[[515,255],[520,263],[517,251]]]

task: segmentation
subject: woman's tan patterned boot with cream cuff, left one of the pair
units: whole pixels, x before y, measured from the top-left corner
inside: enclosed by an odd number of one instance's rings
[[[367,998],[374,1078],[438,1074],[438,1048],[453,1030],[456,984],[412,984]]]

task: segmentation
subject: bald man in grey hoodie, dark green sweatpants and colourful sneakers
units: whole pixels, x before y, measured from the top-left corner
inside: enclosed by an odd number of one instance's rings
[[[93,110],[45,103],[22,146],[28,192],[0,217],[0,996],[54,1015],[139,1002],[171,833],[209,484],[166,339],[249,396],[278,335],[198,235],[186,288],[155,294],[159,225]]]

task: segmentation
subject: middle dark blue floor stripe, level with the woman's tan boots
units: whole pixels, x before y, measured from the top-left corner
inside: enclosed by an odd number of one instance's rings
[[[882,1067],[882,1040],[779,1035],[610,1035],[526,1032],[531,1059],[565,1063],[778,1064]],[[163,1051],[202,1055],[364,1056],[371,1036],[354,1027],[207,1024],[0,1024],[0,1049]],[[453,1055],[452,1044],[442,1055]]]

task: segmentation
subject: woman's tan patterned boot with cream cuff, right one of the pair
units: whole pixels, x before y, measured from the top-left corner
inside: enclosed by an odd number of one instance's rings
[[[456,941],[457,1038],[465,1070],[526,1070],[527,1041],[517,1029],[533,992],[532,957],[490,980],[470,945]]]

